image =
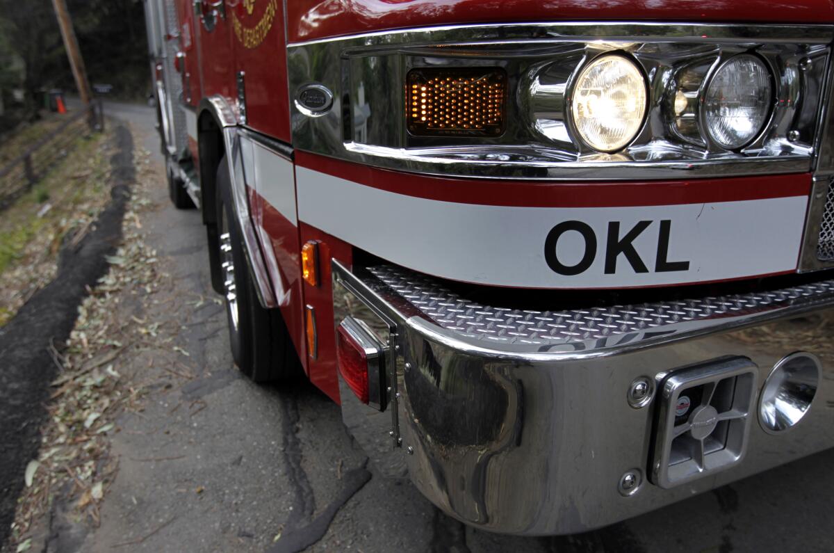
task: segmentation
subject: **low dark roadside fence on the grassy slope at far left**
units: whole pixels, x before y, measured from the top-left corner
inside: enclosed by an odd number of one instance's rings
[[[69,146],[78,136],[104,129],[104,110],[101,100],[88,108],[68,114],[67,119],[50,134],[30,145],[22,154],[0,167],[0,211],[12,205],[21,195],[46,175],[59,160],[66,157]]]

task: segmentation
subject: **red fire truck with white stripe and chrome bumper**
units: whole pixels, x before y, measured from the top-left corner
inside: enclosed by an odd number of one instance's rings
[[[834,446],[826,0],[145,0],[234,363],[515,535]]]

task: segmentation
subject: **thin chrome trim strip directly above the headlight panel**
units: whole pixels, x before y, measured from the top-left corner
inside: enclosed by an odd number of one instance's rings
[[[651,23],[651,22],[559,22],[559,23],[512,23],[495,25],[445,25],[430,28],[406,28],[353,34],[333,38],[317,38],[287,44],[287,48],[298,48],[315,44],[342,42],[354,48],[373,46],[394,47],[400,44],[455,43],[460,41],[500,40],[514,43],[530,39],[550,40],[641,40],[674,38],[703,42],[705,37],[736,43],[783,43],[803,42],[826,44],[831,42],[831,25],[740,25],[736,23]]]

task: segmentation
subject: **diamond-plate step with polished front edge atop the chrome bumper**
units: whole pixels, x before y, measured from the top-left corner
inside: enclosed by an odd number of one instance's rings
[[[622,351],[834,304],[834,280],[821,280],[726,296],[537,311],[473,302],[450,291],[440,279],[399,266],[376,265],[359,271],[455,337],[516,352]]]

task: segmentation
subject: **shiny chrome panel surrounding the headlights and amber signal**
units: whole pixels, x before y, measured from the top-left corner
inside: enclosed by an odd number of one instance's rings
[[[832,37],[834,28],[825,25],[529,23],[294,43],[288,47],[291,94],[314,82],[334,93],[334,104],[314,119],[294,109],[293,143],[299,150],[364,165],[476,178],[633,180],[807,172],[820,134]],[[768,59],[778,89],[771,121],[753,144],[721,150],[709,141],[683,140],[667,128],[666,89],[681,63],[698,59],[714,67],[751,49]],[[652,107],[630,146],[617,155],[600,155],[574,140],[565,117],[565,91],[585,61],[615,50],[630,53],[651,75]],[[311,64],[314,59],[333,61]],[[405,129],[404,117],[391,117],[403,112],[404,93],[403,87],[386,83],[404,83],[412,68],[479,65],[504,67],[512,80],[510,125],[500,138],[420,139]]]

